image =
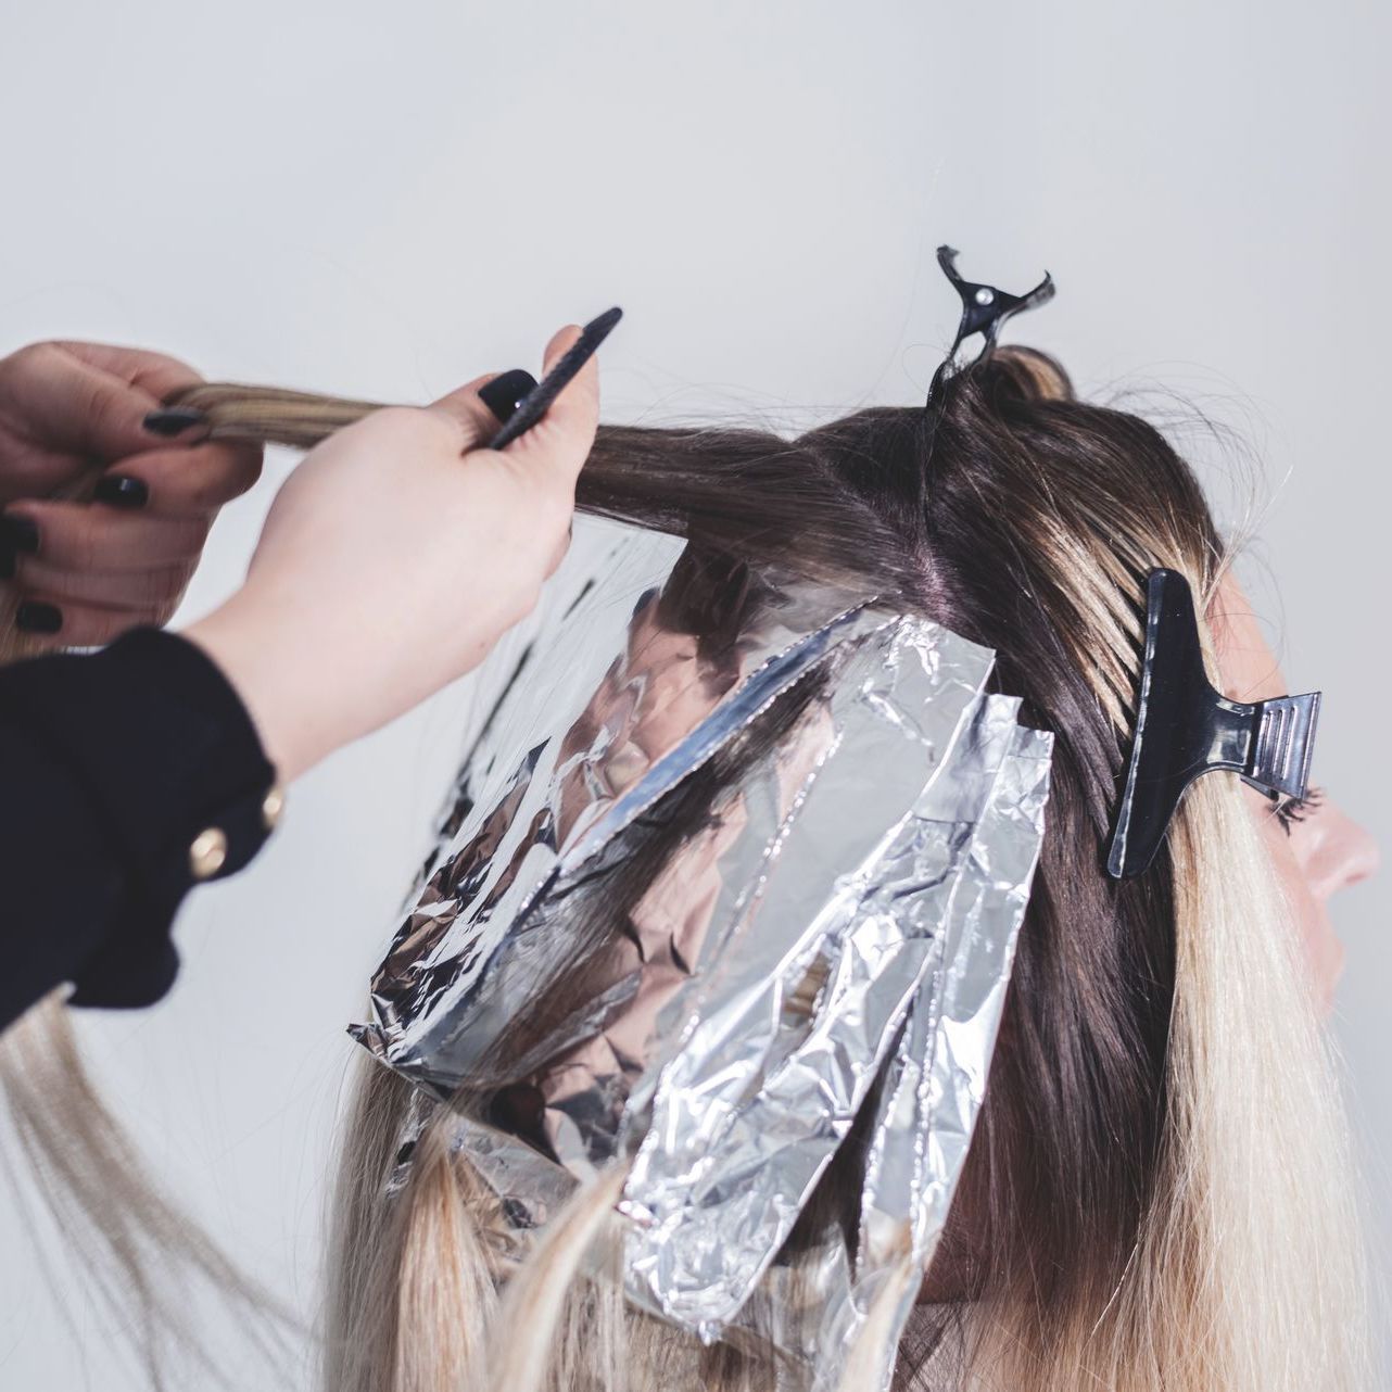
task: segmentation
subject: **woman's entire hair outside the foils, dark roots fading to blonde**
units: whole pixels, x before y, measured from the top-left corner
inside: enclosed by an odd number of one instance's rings
[[[181,404],[207,411],[224,437],[302,445],[369,409],[216,386]],[[896,1350],[888,1293],[845,1392],[878,1389],[896,1352],[902,1389],[1366,1386],[1338,1077],[1250,795],[1226,777],[1197,784],[1166,853],[1133,885],[1104,883],[1096,866],[1130,722],[1137,580],[1169,565],[1211,597],[1222,572],[1182,461],[1136,418],[1073,401],[1048,359],[1002,349],[951,379],[931,419],[862,412],[792,444],[601,429],[579,501],[753,561],[873,569],[880,590],[995,647],[1006,689],[1023,688],[1055,728],[1045,859],[986,1111],[930,1270],[942,1299],[916,1311]],[[1041,672],[1057,675],[1052,688]],[[1157,927],[1160,947],[1144,937]],[[1059,999],[1038,998],[1052,991]],[[1040,1031],[1048,1011],[1054,1034]],[[1041,1072],[1050,1040],[1070,1050],[1057,1079]],[[1034,1097],[1040,1080],[1052,1090]],[[1101,1101],[1062,1115],[1058,1098],[1089,1089]],[[430,1104],[402,1179],[398,1147],[422,1105],[361,1063],[329,1243],[326,1389],[817,1384],[818,1370],[757,1336],[707,1347],[624,1304],[619,1165],[530,1249],[454,1148],[451,1105]],[[1144,1136],[1107,1130],[1128,1116]],[[1030,1125],[1069,1134],[1031,1160]],[[1050,1172],[1059,1154],[1073,1172]],[[1105,1172],[1096,1187],[1089,1161]],[[1094,1221],[1089,1203],[1115,1211]],[[1051,1247],[1059,1232],[1082,1236]],[[896,1279],[902,1290],[917,1272]]]

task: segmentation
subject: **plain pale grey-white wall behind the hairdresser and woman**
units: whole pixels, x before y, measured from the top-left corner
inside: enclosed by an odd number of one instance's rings
[[[1186,438],[1229,518],[1254,484],[1254,555],[1278,582],[1263,611],[1292,689],[1325,690],[1318,781],[1388,841],[1388,17],[1356,0],[0,0],[0,351],[88,337],[210,377],[419,401],[535,369],[560,323],[621,303],[607,419],[824,419],[922,397],[956,317],[938,241],[1012,290],[1047,266],[1059,296],[1013,337],[1086,393],[1158,387],[1166,412],[1239,432]],[[235,586],[285,468],[219,523],[182,618]],[[306,1313],[342,1026],[462,709],[447,693],[295,786],[259,862],[189,903],[171,998],[85,1023],[157,1172]],[[1392,1235],[1385,895],[1336,912],[1375,1247]],[[60,885],[54,905],[61,931]],[[82,1338],[63,1324],[11,1207],[0,1386],[131,1385],[81,1304]]]

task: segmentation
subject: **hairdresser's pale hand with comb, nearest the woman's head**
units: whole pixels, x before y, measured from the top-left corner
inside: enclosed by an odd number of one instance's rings
[[[564,329],[547,369],[575,341]],[[504,451],[479,377],[426,409],[340,430],[271,507],[246,585],[195,624],[280,775],[376,729],[477,665],[565,551],[594,443],[592,359]]]

